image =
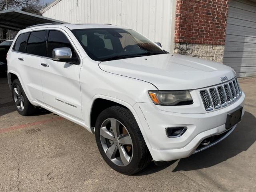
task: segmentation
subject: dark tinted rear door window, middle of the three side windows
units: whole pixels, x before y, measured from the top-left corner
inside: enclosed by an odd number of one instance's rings
[[[45,56],[46,51],[46,31],[31,32],[28,38],[27,53]]]

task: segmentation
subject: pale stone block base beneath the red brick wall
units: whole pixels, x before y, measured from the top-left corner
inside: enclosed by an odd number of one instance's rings
[[[174,53],[223,63],[224,45],[175,43]]]

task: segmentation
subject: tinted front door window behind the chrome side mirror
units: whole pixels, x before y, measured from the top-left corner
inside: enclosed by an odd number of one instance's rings
[[[47,57],[52,57],[52,50],[55,48],[68,47],[72,51],[72,57],[76,57],[74,49],[68,38],[60,31],[50,31],[48,36]]]

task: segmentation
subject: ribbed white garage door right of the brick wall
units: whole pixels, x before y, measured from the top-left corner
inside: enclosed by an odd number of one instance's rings
[[[256,1],[230,1],[223,63],[238,77],[256,75]]]

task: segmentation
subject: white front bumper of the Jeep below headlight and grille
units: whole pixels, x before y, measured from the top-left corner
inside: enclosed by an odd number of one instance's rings
[[[244,106],[244,98],[245,95],[242,93],[234,104],[204,114],[166,112],[157,108],[153,103],[136,103],[134,109],[144,129],[144,137],[148,141],[153,160],[171,161],[193,154],[205,138],[224,132],[227,135],[230,134],[236,125],[226,130],[227,113],[238,106]],[[187,130],[180,137],[168,138],[166,127],[187,127]]]

